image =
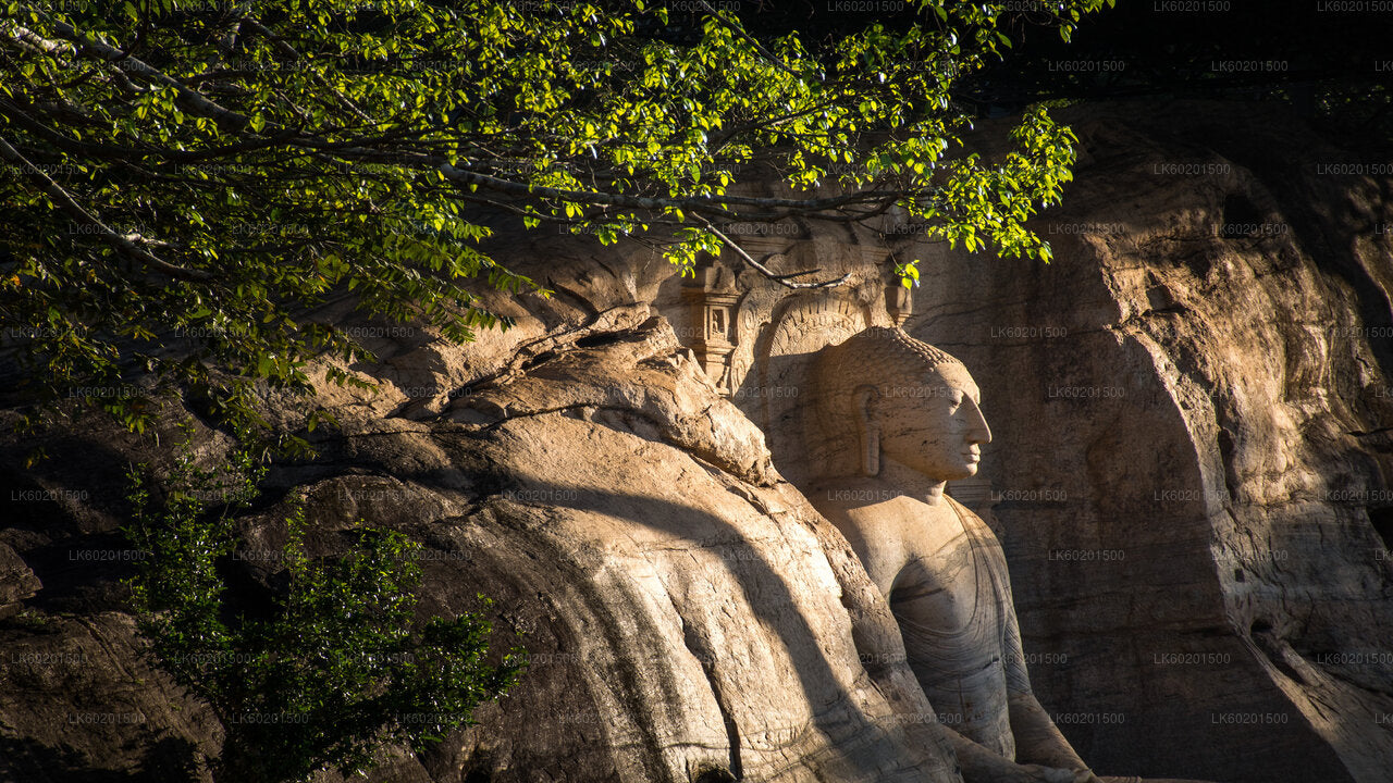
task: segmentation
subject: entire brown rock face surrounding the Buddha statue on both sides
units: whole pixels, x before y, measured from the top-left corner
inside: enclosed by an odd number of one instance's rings
[[[495,255],[554,298],[496,300],[518,326],[465,347],[393,330],[348,368],[379,394],[325,386],[343,429],[272,496],[309,495],[319,552],[358,518],[408,532],[422,610],[489,595],[500,646],[534,662],[478,726],[384,748],[373,779],[957,780],[893,617],[794,489],[809,357],[903,322],[982,389],[995,440],[949,489],[996,528],[1035,692],[1094,769],[1383,780],[1387,184],[1321,173],[1347,159],[1251,107],[1066,120],[1082,157],[1038,226],[1053,265],[897,245],[925,259],[911,315],[869,234],[742,237],[775,269],[850,276],[790,294],[506,233]],[[266,411],[294,426],[297,404]],[[216,755],[120,587],[123,472],[177,440],[81,422],[32,468],[32,443],[0,443],[0,780],[199,779]],[[199,425],[196,446],[213,464],[228,442]],[[277,549],[283,513],[240,520],[244,546]]]

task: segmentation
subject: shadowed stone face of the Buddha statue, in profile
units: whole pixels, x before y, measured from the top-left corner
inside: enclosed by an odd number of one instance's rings
[[[943,362],[911,379],[905,386],[882,386],[872,405],[882,457],[935,481],[975,475],[992,431],[978,407],[982,393],[972,376],[960,364]]]

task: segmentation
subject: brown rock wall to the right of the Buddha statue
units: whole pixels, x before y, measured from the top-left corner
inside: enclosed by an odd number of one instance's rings
[[[1385,780],[1387,183],[1263,107],[1073,123],[1056,262],[926,248],[907,326],[979,379],[1036,694],[1100,772]]]

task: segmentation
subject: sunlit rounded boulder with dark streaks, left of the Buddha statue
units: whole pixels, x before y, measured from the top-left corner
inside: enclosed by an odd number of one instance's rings
[[[476,609],[483,592],[503,612],[501,641],[532,653],[479,726],[378,779],[957,780],[854,555],[660,318],[481,385],[429,421],[347,421],[319,460],[269,485],[308,493],[318,552],[359,518],[425,542],[422,609]],[[284,511],[242,521],[237,563],[255,580],[279,568],[263,553],[279,552]],[[163,724],[180,713],[156,704],[187,704],[169,687],[116,709],[123,683],[150,677],[125,669],[134,655],[84,653],[88,680],[26,702],[22,722],[10,702],[6,741],[110,769],[143,768],[103,747],[153,733],[192,754],[215,733]],[[49,670],[75,677],[72,660]],[[71,750],[25,729],[84,698],[139,718]]]

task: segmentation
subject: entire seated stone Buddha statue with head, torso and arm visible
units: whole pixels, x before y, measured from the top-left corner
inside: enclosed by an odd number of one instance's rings
[[[1041,706],[1002,545],[943,493],[976,474],[992,440],[967,368],[898,327],[872,327],[823,348],[812,379],[820,432],[809,437],[825,464],[808,497],[890,602],[964,780],[1141,780],[1095,776]]]

